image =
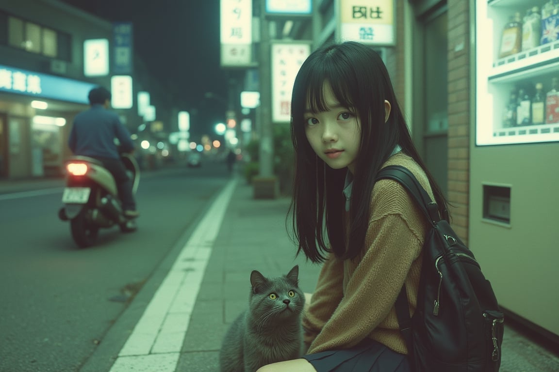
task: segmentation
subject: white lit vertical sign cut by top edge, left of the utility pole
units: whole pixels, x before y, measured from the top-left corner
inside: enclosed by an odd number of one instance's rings
[[[252,61],[252,0],[221,0],[221,66]]]

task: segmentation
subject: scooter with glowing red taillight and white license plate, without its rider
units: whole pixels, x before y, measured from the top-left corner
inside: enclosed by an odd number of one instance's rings
[[[135,158],[121,154],[136,194],[140,168]],[[99,229],[120,226],[123,233],[137,229],[134,218],[124,215],[115,178],[103,164],[91,157],[72,156],[66,162],[66,187],[62,195],[64,206],[58,211],[63,221],[70,221],[70,231],[81,248],[91,247]]]

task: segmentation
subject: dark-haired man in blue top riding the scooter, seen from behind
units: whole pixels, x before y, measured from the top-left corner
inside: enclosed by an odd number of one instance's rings
[[[124,215],[136,218],[136,201],[132,192],[132,180],[126,173],[114,139],[120,141],[122,152],[134,152],[134,142],[130,132],[120,122],[119,117],[108,110],[111,105],[111,92],[102,86],[89,91],[91,108],[79,113],[73,123],[68,138],[68,146],[77,156],[88,156],[103,163],[115,177]]]

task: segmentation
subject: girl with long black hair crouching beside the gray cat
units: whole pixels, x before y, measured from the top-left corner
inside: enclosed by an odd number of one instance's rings
[[[258,371],[409,371],[394,303],[405,284],[415,311],[428,223],[400,183],[375,177],[401,165],[442,215],[446,200],[376,52],[357,42],[313,52],[293,86],[291,133],[297,253],[323,267],[303,319],[308,354]]]

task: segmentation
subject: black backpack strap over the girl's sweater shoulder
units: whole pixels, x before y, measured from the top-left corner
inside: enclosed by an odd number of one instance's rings
[[[437,204],[431,200],[427,191],[425,191],[418,179],[415,178],[414,173],[411,173],[408,168],[399,165],[384,167],[377,173],[376,179],[381,180],[383,178],[389,178],[397,181],[404,186],[404,189],[408,190],[411,197],[415,199],[419,209],[423,211],[423,214],[427,216],[429,221],[432,223],[440,221],[439,208]]]

